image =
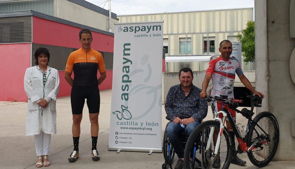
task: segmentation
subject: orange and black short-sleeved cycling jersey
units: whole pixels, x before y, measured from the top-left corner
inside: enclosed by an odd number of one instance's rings
[[[65,72],[74,71],[73,86],[97,86],[97,68],[100,73],[106,71],[101,53],[80,48],[69,55]]]

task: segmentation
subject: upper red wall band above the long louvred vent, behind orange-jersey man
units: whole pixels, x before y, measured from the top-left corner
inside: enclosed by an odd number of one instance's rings
[[[81,28],[33,17],[33,43],[80,48]],[[94,50],[114,52],[114,36],[92,32]]]

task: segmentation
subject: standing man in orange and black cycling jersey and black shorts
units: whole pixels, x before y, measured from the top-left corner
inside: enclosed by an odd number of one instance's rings
[[[81,48],[69,55],[65,67],[65,80],[72,86],[71,107],[73,114],[73,143],[74,150],[68,160],[75,162],[79,156],[79,137],[82,111],[86,103],[89,109],[89,119],[91,123],[92,160],[99,160],[96,144],[98,138],[99,124],[98,115],[100,107],[100,96],[98,86],[106,78],[106,68],[101,53],[91,48],[92,34],[89,29],[82,29],[79,32],[79,42]],[[97,68],[100,77],[97,79]],[[74,72],[74,79],[71,77]]]

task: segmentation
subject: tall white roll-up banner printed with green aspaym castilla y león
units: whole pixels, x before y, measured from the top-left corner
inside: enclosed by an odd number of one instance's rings
[[[163,21],[115,23],[108,150],[162,152]]]

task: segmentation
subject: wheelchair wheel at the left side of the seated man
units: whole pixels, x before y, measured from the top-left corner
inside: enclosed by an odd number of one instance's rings
[[[166,125],[167,128],[168,124]],[[164,138],[163,138],[163,155],[164,155],[164,159],[165,159],[165,163],[162,165],[162,168],[165,167],[164,165],[167,166],[167,168],[169,168],[168,166],[170,166],[170,168],[172,169],[172,162],[174,159],[174,149],[173,146],[170,144],[169,140],[168,140],[168,134],[165,128],[165,132],[164,132]]]

